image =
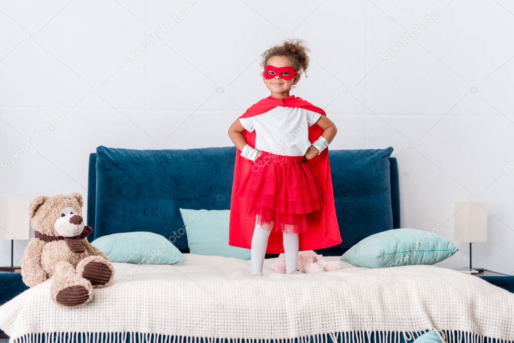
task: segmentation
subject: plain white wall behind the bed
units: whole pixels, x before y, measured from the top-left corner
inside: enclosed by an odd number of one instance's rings
[[[85,195],[98,145],[230,145],[228,126],[268,95],[260,53],[299,37],[311,65],[292,93],[337,124],[331,148],[394,147],[402,226],[439,224],[453,239],[453,202],[487,201],[488,242],[475,245],[476,265],[514,272],[514,171],[504,171],[514,161],[514,5],[506,0],[64,0],[1,9],[0,161],[45,130],[0,173],[2,196]],[[425,20],[430,14],[437,18]],[[128,61],[174,15],[176,25]],[[379,61],[416,24],[416,40]],[[1,244],[7,264],[9,242]],[[16,242],[17,263],[25,244]],[[443,265],[466,265],[467,245],[458,245]]]

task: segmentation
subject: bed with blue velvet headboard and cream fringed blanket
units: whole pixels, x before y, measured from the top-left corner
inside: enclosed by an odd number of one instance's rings
[[[343,243],[399,227],[392,148],[331,150]],[[430,330],[448,342],[514,342],[514,295],[436,266],[343,268],[250,277],[247,260],[188,253],[178,208],[226,209],[233,147],[127,150],[90,156],[88,224],[94,238],[128,231],[175,237],[186,261],[114,263],[114,283],[76,309],[60,308],[49,281],[0,307],[0,327],[17,343],[411,342]],[[227,172],[227,169],[229,170]],[[209,178],[201,176],[209,172]],[[269,256],[265,266],[276,260]]]

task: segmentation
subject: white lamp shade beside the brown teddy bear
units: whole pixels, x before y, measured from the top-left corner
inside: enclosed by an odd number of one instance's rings
[[[0,239],[29,239],[30,199],[0,198]]]

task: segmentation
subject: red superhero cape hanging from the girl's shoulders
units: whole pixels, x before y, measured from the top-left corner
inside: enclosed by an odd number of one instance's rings
[[[246,118],[261,115],[277,106],[285,107],[301,107],[309,111],[321,113],[326,116],[325,112],[314,106],[313,104],[295,96],[289,96],[283,99],[273,98],[271,96],[262,99],[258,103],[253,104],[246,112],[238,118]],[[308,129],[309,141],[313,143],[322,134],[323,130],[318,125],[312,125]],[[255,130],[248,132],[244,130],[242,135],[251,147],[255,147]],[[237,189],[243,179],[243,176],[252,167],[253,161],[241,157],[241,150],[235,149],[235,165],[234,180],[232,183],[232,196],[230,200],[230,224],[228,244],[232,246],[250,249],[253,230],[255,228],[255,216],[246,217],[244,215],[245,204],[242,204],[240,197],[237,195]],[[318,180],[324,192],[324,207],[321,211],[316,211],[316,216],[311,216],[312,223],[309,231],[299,234],[299,250],[314,250],[323,247],[330,247],[341,243],[341,234],[339,233],[339,225],[336,218],[336,208],[334,204],[334,192],[332,190],[332,178],[330,173],[330,164],[328,162],[328,148],[321,151],[311,160],[314,176]],[[272,232],[268,239],[268,247],[266,253],[280,254],[284,252],[282,244],[282,232]]]

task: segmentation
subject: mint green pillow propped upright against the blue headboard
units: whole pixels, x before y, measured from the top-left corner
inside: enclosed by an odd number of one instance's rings
[[[229,209],[179,209],[191,254],[250,259],[250,250],[228,245]]]

